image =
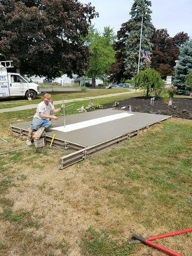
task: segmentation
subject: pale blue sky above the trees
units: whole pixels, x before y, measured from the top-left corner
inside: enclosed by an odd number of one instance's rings
[[[78,0],[82,4],[91,2],[100,17],[92,20],[100,32],[110,26],[114,32],[130,19],[134,0]],[[151,0],[152,24],[156,29],[167,28],[169,36],[184,31],[192,38],[192,0]]]

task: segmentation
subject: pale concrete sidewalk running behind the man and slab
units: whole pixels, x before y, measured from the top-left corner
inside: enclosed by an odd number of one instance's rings
[[[138,92],[139,90],[137,90]],[[131,94],[135,92],[135,89],[128,91],[128,92],[117,92],[115,94],[106,94],[106,95],[98,95],[98,96],[90,96],[90,97],[84,97],[84,98],[73,98],[71,100],[65,100],[65,104],[66,103],[72,103],[75,101],[85,101],[85,100],[94,100],[97,98],[108,98],[108,97],[115,97],[115,96],[120,96],[120,95],[125,95],[125,94]],[[63,101],[54,101],[54,105],[56,104],[62,104]],[[31,105],[23,105],[23,106],[19,106],[19,107],[12,107],[12,108],[2,108],[0,110],[0,113],[6,113],[6,112],[12,112],[12,111],[21,111],[21,110],[28,110],[28,109],[33,109],[33,108],[37,108],[38,104],[31,104]]]

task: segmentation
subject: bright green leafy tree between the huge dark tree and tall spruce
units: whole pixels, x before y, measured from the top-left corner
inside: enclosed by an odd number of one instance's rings
[[[113,29],[109,27],[104,28],[102,35],[92,27],[89,30],[87,43],[90,57],[85,74],[92,78],[92,87],[95,87],[95,79],[107,74],[111,64],[115,61],[115,51],[112,46],[114,39]]]

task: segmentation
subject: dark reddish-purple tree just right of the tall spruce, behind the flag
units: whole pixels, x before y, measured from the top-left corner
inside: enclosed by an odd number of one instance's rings
[[[155,30],[152,36],[151,68],[156,69],[162,78],[172,75],[175,60],[180,54],[180,46],[188,40],[187,33],[180,32],[174,37],[169,37],[167,29]]]

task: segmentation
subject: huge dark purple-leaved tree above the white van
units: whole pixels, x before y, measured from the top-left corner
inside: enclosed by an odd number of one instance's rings
[[[89,55],[84,37],[95,15],[77,0],[0,1],[0,59],[28,75],[82,75]]]

